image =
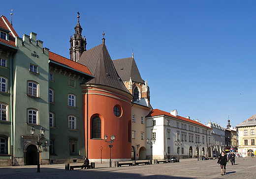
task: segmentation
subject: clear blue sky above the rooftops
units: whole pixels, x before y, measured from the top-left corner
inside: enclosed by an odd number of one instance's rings
[[[10,0],[1,9],[20,37],[69,58],[80,13],[87,49],[102,43],[112,59],[133,49],[151,105],[203,124],[236,126],[256,114],[255,0]]]

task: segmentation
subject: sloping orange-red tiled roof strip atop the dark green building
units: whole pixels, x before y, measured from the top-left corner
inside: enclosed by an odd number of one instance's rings
[[[80,71],[82,73],[92,75],[86,66],[84,66],[80,63],[74,62],[72,60],[69,60],[68,58],[65,58],[61,55],[54,53],[54,52],[49,51],[49,59],[54,62],[57,62],[59,64],[62,64],[64,66],[67,66],[69,68],[72,68],[74,70]]]

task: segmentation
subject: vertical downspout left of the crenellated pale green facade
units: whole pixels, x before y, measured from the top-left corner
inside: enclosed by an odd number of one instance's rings
[[[10,112],[11,112],[11,165],[13,166],[13,122],[12,122],[12,53],[10,56]]]

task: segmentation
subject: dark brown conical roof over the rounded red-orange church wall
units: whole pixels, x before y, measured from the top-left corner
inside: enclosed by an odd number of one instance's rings
[[[130,94],[115,69],[105,43],[84,51],[77,62],[86,65],[95,77],[87,83],[110,86]]]

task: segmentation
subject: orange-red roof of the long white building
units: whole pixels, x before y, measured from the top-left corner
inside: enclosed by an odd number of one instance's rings
[[[171,115],[170,113],[162,111],[160,109],[153,109],[146,117],[154,117],[154,116],[161,116],[161,115],[173,117],[173,118],[176,118],[176,119],[179,119],[179,120],[182,120],[182,121],[186,121],[186,122],[193,123],[193,124],[205,127],[205,128],[209,128],[208,126],[205,126],[205,125],[203,125],[201,123],[198,123],[194,120],[184,118],[184,117],[181,117],[181,116],[178,116],[178,115],[175,117],[175,116]]]

